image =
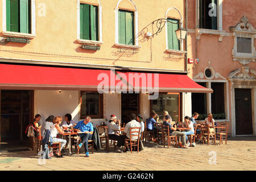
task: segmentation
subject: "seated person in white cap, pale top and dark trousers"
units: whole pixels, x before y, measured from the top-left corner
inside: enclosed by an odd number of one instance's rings
[[[117,123],[117,125],[116,125]],[[109,119],[109,139],[117,140],[116,152],[121,153],[120,147],[123,145],[123,136],[120,136],[117,131],[120,130],[120,120],[112,114]]]

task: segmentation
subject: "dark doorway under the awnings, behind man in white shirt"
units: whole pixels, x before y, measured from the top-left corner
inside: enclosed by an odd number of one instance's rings
[[[130,122],[130,115],[132,113],[139,114],[139,93],[122,93],[121,105],[122,123]]]

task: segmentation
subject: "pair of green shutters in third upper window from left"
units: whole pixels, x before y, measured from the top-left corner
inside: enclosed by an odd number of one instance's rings
[[[134,45],[134,13],[118,11],[118,43]]]

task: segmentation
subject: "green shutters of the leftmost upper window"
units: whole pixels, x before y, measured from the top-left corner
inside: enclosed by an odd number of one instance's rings
[[[31,34],[30,0],[6,0],[6,31]]]

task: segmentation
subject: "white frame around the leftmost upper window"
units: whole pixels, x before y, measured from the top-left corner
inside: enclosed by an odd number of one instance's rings
[[[23,38],[34,38],[36,36],[36,7],[35,1],[31,0],[31,34],[6,31],[6,0],[2,0],[2,27],[3,35],[19,36]]]

